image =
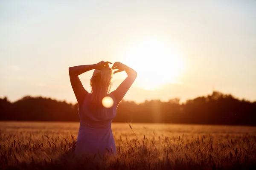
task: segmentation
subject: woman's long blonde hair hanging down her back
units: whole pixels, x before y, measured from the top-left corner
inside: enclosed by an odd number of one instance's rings
[[[112,69],[104,66],[102,70],[94,70],[90,79],[91,104],[94,107],[102,106],[102,99],[109,93],[112,87]]]

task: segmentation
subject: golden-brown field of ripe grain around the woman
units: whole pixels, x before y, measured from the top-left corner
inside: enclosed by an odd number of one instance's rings
[[[113,123],[115,158],[67,152],[79,123],[0,122],[0,169],[256,169],[256,127]]]

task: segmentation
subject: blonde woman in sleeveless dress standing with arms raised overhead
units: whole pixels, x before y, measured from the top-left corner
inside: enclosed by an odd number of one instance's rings
[[[137,72],[121,62],[115,62],[110,68],[111,62],[101,61],[93,65],[79,65],[69,68],[70,82],[79,105],[80,127],[76,141],[75,154],[116,155],[116,145],[111,130],[111,122],[116,116],[116,108],[125,96],[128,89],[137,77]],[[88,93],[79,75],[94,70],[90,79],[91,93]],[[118,69],[113,74],[125,71],[128,77],[109,93],[111,88],[112,69]],[[113,106],[105,108],[102,99],[110,96],[113,99]]]

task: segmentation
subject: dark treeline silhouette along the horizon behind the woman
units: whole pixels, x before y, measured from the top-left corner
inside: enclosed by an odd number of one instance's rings
[[[50,98],[25,96],[16,102],[0,99],[0,120],[79,121],[78,105]],[[113,122],[186,123],[212,125],[256,125],[256,102],[240,100],[230,94],[213,91],[211,95],[119,104]]]

